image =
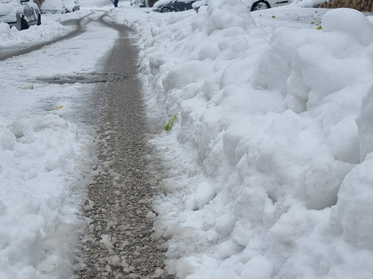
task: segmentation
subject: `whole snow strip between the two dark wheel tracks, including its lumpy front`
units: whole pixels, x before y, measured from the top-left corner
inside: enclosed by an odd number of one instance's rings
[[[93,86],[48,80],[102,70],[117,32],[101,15],[78,37],[0,61],[1,279],[72,276],[84,185],[95,175],[91,128],[77,115]]]

